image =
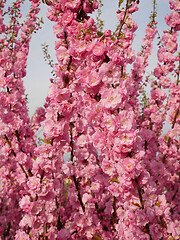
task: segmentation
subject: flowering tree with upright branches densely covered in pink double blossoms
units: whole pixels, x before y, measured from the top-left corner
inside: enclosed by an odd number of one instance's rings
[[[99,32],[88,16],[96,0],[43,0],[55,22],[58,64],[32,119],[23,78],[42,3],[30,0],[22,22],[23,2],[7,8],[0,0],[1,239],[179,239],[180,1],[169,0],[169,29],[150,82],[143,76],[157,33],[155,1],[136,55],[138,0],[124,1],[124,8],[119,1],[114,34]],[[163,134],[167,118],[171,129]]]

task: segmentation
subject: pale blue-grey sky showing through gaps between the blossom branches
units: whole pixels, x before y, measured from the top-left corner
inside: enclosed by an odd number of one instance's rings
[[[149,16],[152,10],[152,0],[143,0],[139,5],[139,11],[135,13],[134,19],[138,24],[138,30],[136,31],[135,42],[133,48],[137,52],[141,47],[142,38],[144,37],[145,28],[149,21]],[[164,21],[164,16],[170,12],[168,0],[157,0],[158,4],[158,30],[162,34],[163,30],[167,29]],[[118,6],[118,0],[103,0],[104,6],[102,8],[102,19],[104,20],[104,29],[115,30],[118,22],[116,19],[116,11]],[[28,58],[27,76],[24,81],[26,88],[26,93],[28,94],[28,107],[30,116],[35,112],[35,110],[43,106],[45,98],[47,96],[48,87],[50,85],[49,79],[51,76],[51,68],[43,59],[43,51],[41,44],[46,43],[49,45],[49,53],[52,58],[55,59],[54,51],[54,41],[55,36],[52,32],[53,24],[46,18],[47,7],[46,5],[41,5],[41,11],[39,16],[43,17],[44,25],[42,29],[34,34],[30,44],[30,52]],[[150,58],[150,69],[155,67],[156,62],[156,50],[157,50],[157,40],[155,41],[155,50]],[[55,60],[56,62],[56,60]]]

